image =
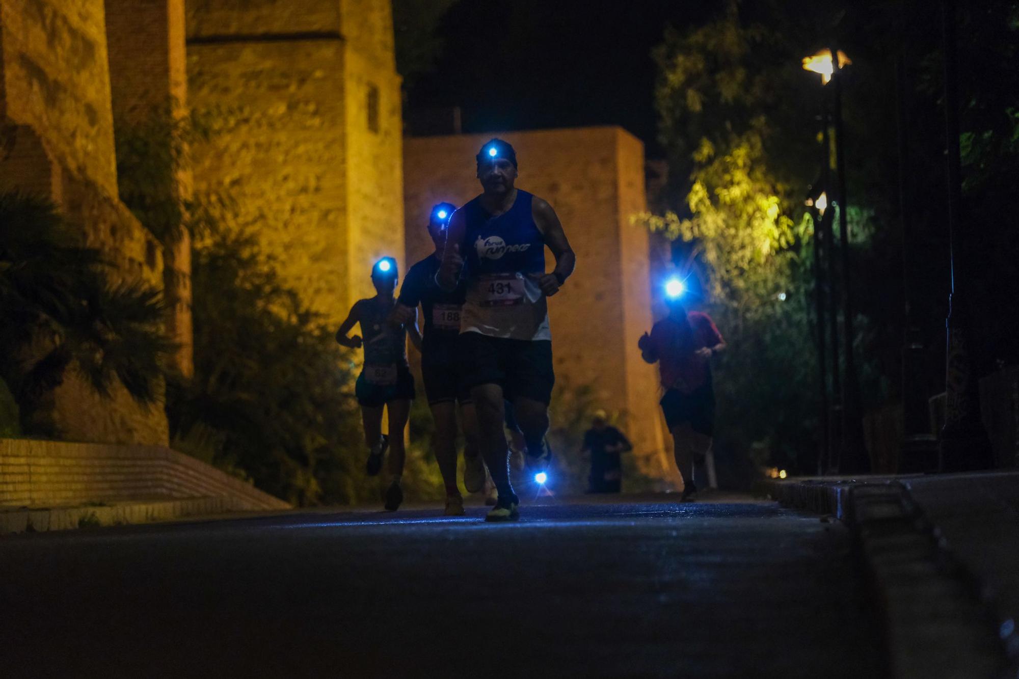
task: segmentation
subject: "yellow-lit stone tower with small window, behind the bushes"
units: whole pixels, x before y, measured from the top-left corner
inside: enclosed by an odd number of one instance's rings
[[[400,80],[388,0],[190,0],[196,194],[236,201],[283,281],[338,324],[404,253]],[[406,270],[406,267],[404,267]]]

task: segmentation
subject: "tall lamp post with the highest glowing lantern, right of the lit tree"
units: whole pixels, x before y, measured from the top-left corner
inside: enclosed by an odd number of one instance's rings
[[[853,63],[841,50],[821,50],[803,59],[803,68],[820,73],[821,85],[834,81],[833,95],[833,126],[835,132],[836,188],[839,204],[839,245],[842,265],[842,327],[843,341],[846,344],[845,379],[842,383],[842,435],[840,436],[838,470],[840,472],[858,473],[869,471],[870,460],[866,454],[863,441],[863,421],[860,403],[860,384],[856,372],[856,360],[853,352],[854,311],[852,300],[851,267],[849,262],[849,226],[847,220],[846,200],[846,155],[842,124],[842,76],[840,71],[846,65]],[[826,129],[826,125],[825,125]],[[834,239],[830,241],[834,246]],[[834,248],[833,248],[834,249]],[[834,263],[834,262],[833,262]],[[834,269],[833,269],[834,272]],[[833,274],[834,279],[834,274]],[[833,295],[835,297],[835,295]],[[833,305],[833,313],[835,312]],[[833,345],[837,343],[833,342]]]

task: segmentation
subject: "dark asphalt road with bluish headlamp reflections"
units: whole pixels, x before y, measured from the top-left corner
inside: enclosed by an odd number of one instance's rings
[[[839,524],[675,498],[0,538],[0,676],[882,676]]]

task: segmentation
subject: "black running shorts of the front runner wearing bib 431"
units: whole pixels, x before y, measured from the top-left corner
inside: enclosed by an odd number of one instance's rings
[[[507,340],[480,332],[460,335],[460,364],[465,388],[498,384],[508,401],[518,397],[552,400],[555,373],[552,370],[552,343],[548,340]]]

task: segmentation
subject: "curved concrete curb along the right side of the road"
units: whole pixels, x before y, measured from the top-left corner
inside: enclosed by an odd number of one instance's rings
[[[975,576],[898,479],[793,479],[764,488],[786,507],[834,515],[852,530],[882,618],[892,676],[1006,676],[1008,657]]]

